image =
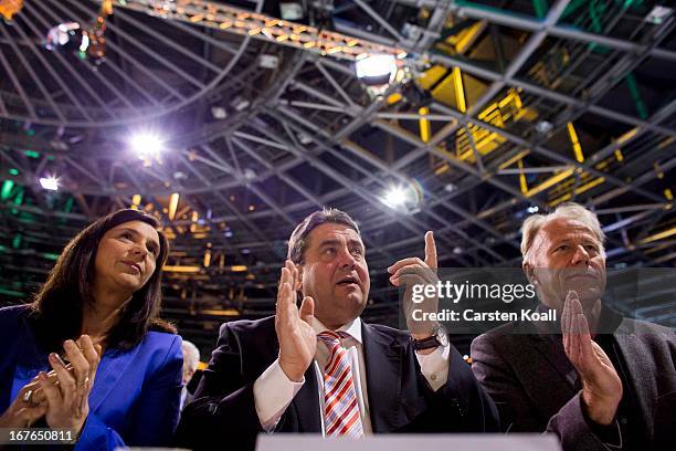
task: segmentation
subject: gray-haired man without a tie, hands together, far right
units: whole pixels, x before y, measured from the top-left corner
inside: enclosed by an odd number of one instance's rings
[[[566,204],[522,227],[524,271],[558,331],[509,323],[472,344],[473,370],[507,432],[556,433],[568,450],[667,449],[676,424],[676,337],[601,303],[603,232]],[[669,444],[667,444],[669,443]]]

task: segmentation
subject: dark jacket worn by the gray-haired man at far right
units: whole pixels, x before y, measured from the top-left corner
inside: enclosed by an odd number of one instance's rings
[[[616,370],[636,394],[640,411],[632,421],[652,449],[673,440],[667,438],[676,423],[676,336],[655,324],[620,321],[613,338],[627,368]],[[522,326],[509,323],[472,343],[472,369],[498,406],[503,430],[554,432],[563,450],[608,450],[584,419],[578,375],[560,336],[521,334]]]

